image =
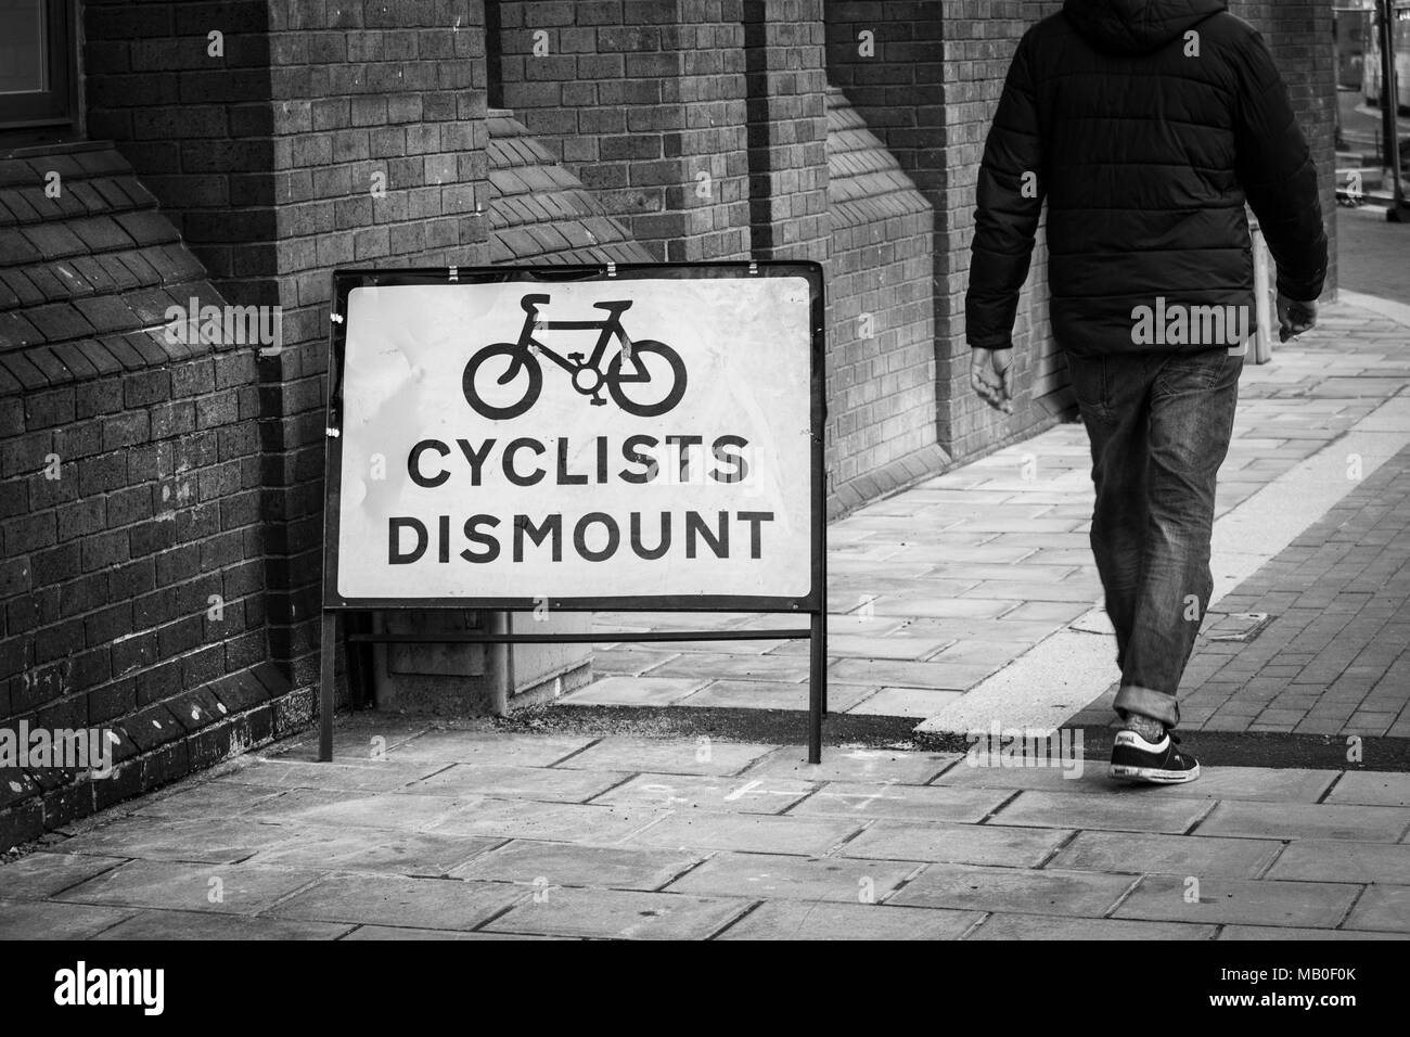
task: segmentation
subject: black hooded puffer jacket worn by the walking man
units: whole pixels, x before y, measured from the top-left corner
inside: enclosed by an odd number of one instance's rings
[[[1252,327],[1245,198],[1279,289],[1316,299],[1317,171],[1263,38],[1224,0],[1067,0],[1019,42],[988,134],[969,344],[1012,346],[1043,199],[1063,348],[1201,348],[1136,344],[1132,310],[1162,298],[1248,306]]]

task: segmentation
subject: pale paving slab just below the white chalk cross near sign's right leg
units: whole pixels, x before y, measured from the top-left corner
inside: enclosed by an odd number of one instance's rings
[[[661,849],[735,849],[749,854],[822,856],[862,827],[860,821],[771,814],[673,813],[626,842]]]

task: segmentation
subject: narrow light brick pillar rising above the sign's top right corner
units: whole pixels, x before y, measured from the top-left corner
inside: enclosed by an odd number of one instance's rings
[[[825,58],[822,0],[744,0],[756,258],[828,258]]]

